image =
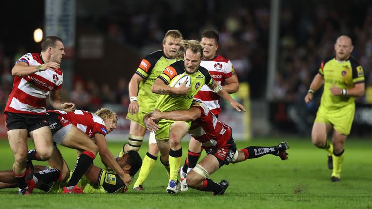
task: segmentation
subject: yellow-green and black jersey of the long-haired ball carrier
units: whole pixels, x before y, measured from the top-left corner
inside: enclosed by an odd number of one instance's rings
[[[179,60],[171,66],[167,67],[162,74],[158,76],[167,85],[177,75],[186,73],[184,61]],[[209,71],[202,66],[193,74],[187,74],[191,77],[191,89],[186,96],[171,96],[169,94],[162,94],[159,96],[155,108],[162,112],[169,112],[172,110],[187,110],[190,108],[192,100],[204,84],[210,86],[213,84],[213,78]]]

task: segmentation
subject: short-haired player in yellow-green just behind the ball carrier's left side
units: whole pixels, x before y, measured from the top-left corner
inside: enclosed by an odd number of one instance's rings
[[[146,133],[143,117],[153,111],[158,98],[158,94],[151,92],[151,86],[163,70],[176,61],[175,55],[181,47],[180,42],[182,39],[183,37],[180,31],[169,30],[163,38],[163,50],[147,55],[132,76],[129,82],[130,104],[126,116],[131,121],[129,138],[128,143],[124,144],[123,149],[119,152],[119,157],[128,150],[138,151],[140,149]],[[133,185],[134,190],[143,190],[142,183],[145,177],[148,176],[150,169],[154,166],[158,152],[159,149],[156,145],[155,134],[150,133],[149,151],[143,158],[143,167]],[[162,163],[168,162],[168,159],[164,160],[160,158],[160,161]],[[163,165],[167,173],[169,173],[169,164],[163,163]]]

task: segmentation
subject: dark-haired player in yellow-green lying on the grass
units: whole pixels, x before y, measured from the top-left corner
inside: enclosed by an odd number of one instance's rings
[[[124,173],[134,176],[142,165],[140,155],[135,151],[128,151],[116,159]],[[46,166],[34,166],[34,175],[47,175],[44,181],[38,181],[33,188],[38,188],[47,193],[62,193],[67,182],[53,181],[59,172],[56,168]],[[72,173],[72,171],[71,171]],[[58,177],[57,177],[58,178]],[[18,187],[16,177],[13,176],[12,170],[0,171],[0,189]],[[84,187],[84,193],[124,193],[127,190],[124,182],[119,175],[114,172],[101,169],[91,164],[84,176],[78,181],[78,187]],[[33,190],[32,188],[32,190]],[[29,188],[30,190],[31,188]]]

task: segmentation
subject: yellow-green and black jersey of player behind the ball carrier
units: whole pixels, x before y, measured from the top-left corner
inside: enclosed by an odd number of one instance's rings
[[[151,86],[164,69],[175,61],[176,59],[167,58],[162,50],[155,51],[142,59],[140,67],[136,71],[136,74],[143,78],[137,94],[137,102],[141,112],[153,111],[159,95],[151,92]]]

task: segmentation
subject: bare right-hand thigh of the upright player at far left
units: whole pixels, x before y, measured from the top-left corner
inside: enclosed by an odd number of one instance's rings
[[[51,155],[53,151],[53,136],[49,126],[43,126],[30,132],[31,139],[35,143],[35,149],[41,155]]]

